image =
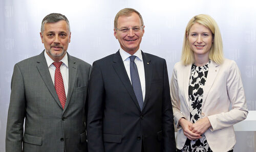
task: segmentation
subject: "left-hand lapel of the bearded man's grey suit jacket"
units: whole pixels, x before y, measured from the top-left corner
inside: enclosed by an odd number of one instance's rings
[[[57,104],[62,108],[61,103],[58,98],[58,95],[55,91],[54,84],[52,82],[52,78],[51,78],[51,75],[50,75],[50,72],[49,72],[49,69],[47,66],[47,62],[45,59],[44,51],[42,51],[42,53],[38,56],[37,70],[38,70],[39,74],[41,75],[42,80],[45,82],[49,92],[51,93],[51,95],[53,96],[53,98],[55,99]]]

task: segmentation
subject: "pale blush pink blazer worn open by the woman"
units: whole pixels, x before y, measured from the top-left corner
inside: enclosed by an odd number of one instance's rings
[[[191,64],[175,64],[170,82],[174,121],[177,127],[176,144],[182,149],[187,137],[178,126],[179,119],[189,120],[188,83]],[[202,116],[208,117],[211,127],[205,132],[212,151],[229,151],[236,143],[233,124],[244,120],[248,114],[245,93],[239,68],[233,60],[222,64],[211,61],[203,86]],[[231,105],[231,110],[229,106]]]

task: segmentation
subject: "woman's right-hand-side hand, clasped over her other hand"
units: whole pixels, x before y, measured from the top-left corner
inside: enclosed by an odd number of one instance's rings
[[[189,127],[189,130],[195,134],[202,135],[211,126],[208,117],[198,120]]]

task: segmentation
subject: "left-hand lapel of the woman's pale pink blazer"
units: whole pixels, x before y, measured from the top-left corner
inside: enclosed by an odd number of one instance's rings
[[[187,105],[189,106],[189,100],[188,100],[188,85],[189,85],[189,77],[190,77],[190,71],[191,71],[191,64],[188,64],[185,66],[183,70],[183,88],[184,88],[184,95],[185,100],[187,102]]]

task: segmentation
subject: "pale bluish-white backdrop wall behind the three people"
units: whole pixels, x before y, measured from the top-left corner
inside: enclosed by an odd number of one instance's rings
[[[180,59],[188,20],[201,13],[215,18],[222,33],[225,57],[237,62],[248,108],[256,110],[256,6],[253,1],[1,0],[0,152],[5,151],[13,66],[44,49],[39,37],[42,18],[53,12],[66,15],[72,32],[68,52],[92,64],[118,50],[113,22],[116,13],[126,7],[141,13],[145,23],[141,49],[166,59],[169,79],[174,64]],[[236,132],[234,151],[253,151],[253,134]]]

